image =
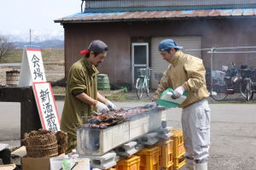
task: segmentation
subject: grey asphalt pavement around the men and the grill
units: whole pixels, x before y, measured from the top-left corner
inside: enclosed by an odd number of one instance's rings
[[[115,102],[134,107],[144,102]],[[63,102],[57,102],[61,113]],[[256,105],[211,104],[211,149],[209,170],[256,170]],[[20,104],[0,102],[0,142],[20,144]],[[181,109],[167,111],[169,126],[181,128]],[[183,168],[182,168],[183,169]]]

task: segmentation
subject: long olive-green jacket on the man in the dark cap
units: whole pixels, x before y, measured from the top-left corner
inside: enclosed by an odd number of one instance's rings
[[[96,107],[88,105],[75,96],[87,94],[92,99],[97,99],[97,80],[98,71],[85,57],[79,59],[70,68],[67,77],[67,89],[65,104],[61,116],[61,130],[76,136],[76,128],[82,124],[81,113],[90,116]]]

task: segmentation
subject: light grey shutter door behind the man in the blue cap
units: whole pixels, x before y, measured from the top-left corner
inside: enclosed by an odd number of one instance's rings
[[[162,59],[158,44],[160,41],[171,38],[177,45],[183,46],[183,52],[201,58],[201,50],[184,51],[185,49],[201,49],[201,37],[152,37],[151,39],[151,68],[153,69],[150,82],[151,88],[157,88],[160,75],[166,71],[168,62]]]

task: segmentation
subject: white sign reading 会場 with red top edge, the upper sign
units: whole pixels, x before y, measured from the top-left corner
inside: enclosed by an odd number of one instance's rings
[[[41,48],[26,46],[23,50],[19,87],[32,86],[32,82],[46,82]]]

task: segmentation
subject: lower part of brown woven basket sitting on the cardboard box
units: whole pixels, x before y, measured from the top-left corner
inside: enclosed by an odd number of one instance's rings
[[[26,147],[26,154],[29,157],[52,157],[58,156],[58,144],[34,145]]]

